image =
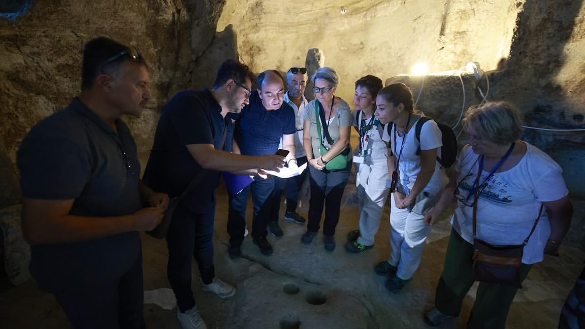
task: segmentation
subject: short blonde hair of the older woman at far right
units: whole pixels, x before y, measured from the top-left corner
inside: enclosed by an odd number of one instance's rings
[[[520,138],[522,119],[518,109],[508,102],[487,102],[467,110],[463,128],[472,128],[498,145],[508,145]]]

